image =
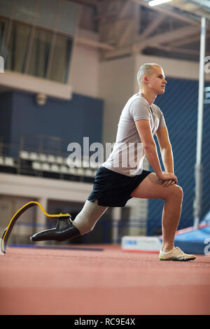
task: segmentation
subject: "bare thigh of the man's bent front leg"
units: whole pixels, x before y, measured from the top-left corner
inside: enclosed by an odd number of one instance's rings
[[[159,183],[158,176],[152,172],[139,186],[132,192],[131,197],[141,197],[142,199],[162,199],[167,200],[169,195],[181,193],[180,186],[174,184],[167,187]]]

